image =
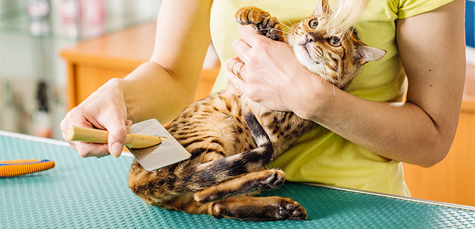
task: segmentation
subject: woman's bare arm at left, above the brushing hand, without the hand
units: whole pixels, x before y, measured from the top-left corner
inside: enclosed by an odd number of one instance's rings
[[[124,79],[127,110],[134,122],[166,123],[193,101],[210,45],[212,1],[162,1],[150,61]]]

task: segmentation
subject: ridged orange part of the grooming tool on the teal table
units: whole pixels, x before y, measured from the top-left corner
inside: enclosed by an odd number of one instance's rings
[[[42,161],[32,164],[7,164],[0,166],[0,177],[12,177],[15,175],[36,173],[50,168],[54,168],[54,161]]]

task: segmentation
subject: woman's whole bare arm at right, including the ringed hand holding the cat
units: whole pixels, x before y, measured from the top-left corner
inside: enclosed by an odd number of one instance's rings
[[[259,69],[253,65],[264,62],[256,61],[260,58],[255,57],[244,61],[241,75],[245,81],[232,74],[228,76],[251,100],[270,109],[293,111],[382,157],[432,166],[446,156],[458,123],[465,79],[463,12],[464,1],[458,0],[397,21],[397,45],[409,80],[404,104],[364,100],[297,65],[293,76],[278,73],[284,80],[256,79],[257,76],[250,75],[250,69]],[[259,45],[268,52],[272,52],[272,47],[279,49],[276,47],[279,44],[255,42],[260,38],[249,36],[250,31],[249,27],[240,28],[243,39],[250,43],[248,46],[242,40],[233,44],[239,58],[254,55],[250,49]],[[287,53],[286,60],[268,61],[270,56],[275,56],[269,54],[265,60],[272,66],[261,69],[293,63],[290,52],[282,50],[279,52]],[[230,59],[226,63],[228,69],[234,62],[235,59]],[[262,78],[263,74],[259,75]],[[254,82],[258,85],[250,85]]]

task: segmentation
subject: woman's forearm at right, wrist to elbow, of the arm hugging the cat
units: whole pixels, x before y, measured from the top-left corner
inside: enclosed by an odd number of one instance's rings
[[[432,166],[451,146],[456,119],[450,124],[453,129],[440,131],[430,116],[411,102],[372,102],[326,88],[319,110],[307,118],[381,157]]]

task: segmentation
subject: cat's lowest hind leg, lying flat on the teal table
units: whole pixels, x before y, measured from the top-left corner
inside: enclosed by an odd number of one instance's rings
[[[211,205],[214,217],[254,221],[304,220],[307,212],[290,198],[236,196]]]

